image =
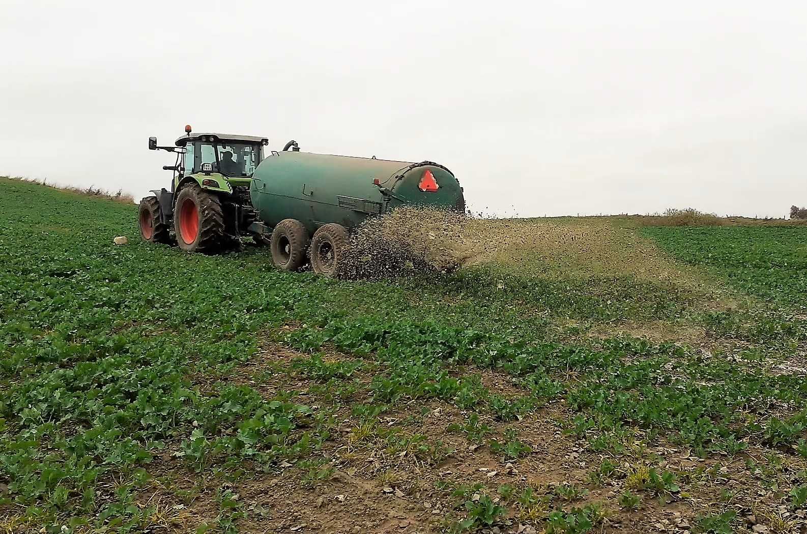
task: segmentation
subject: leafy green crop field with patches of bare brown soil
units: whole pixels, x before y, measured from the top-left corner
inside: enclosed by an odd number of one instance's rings
[[[0,178],[0,532],[801,532],[807,227],[507,228],[349,282]]]

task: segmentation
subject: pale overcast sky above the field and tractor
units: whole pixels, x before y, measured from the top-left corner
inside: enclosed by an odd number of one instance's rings
[[[194,131],[437,161],[475,211],[807,204],[807,2],[0,0],[0,174],[168,186]]]

